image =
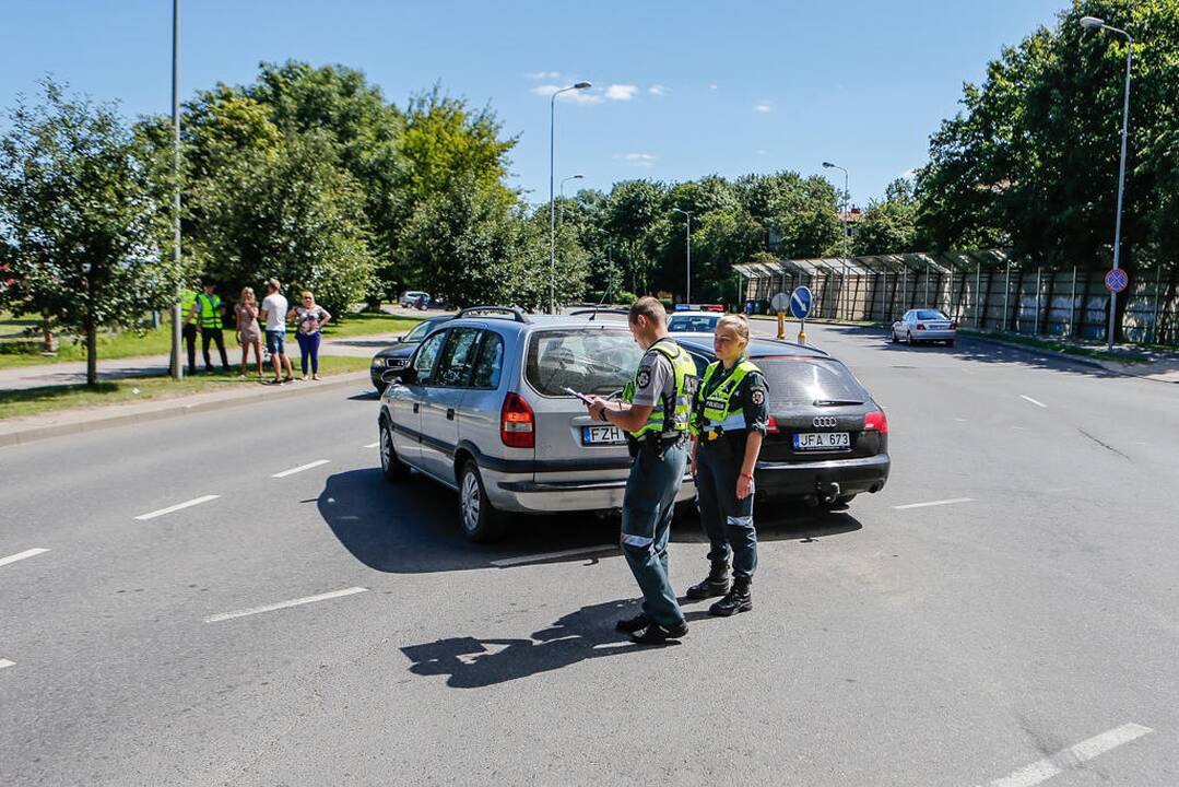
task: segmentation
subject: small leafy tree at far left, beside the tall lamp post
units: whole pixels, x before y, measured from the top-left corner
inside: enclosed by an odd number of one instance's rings
[[[46,80],[44,103],[18,101],[0,138],[0,301],[85,336],[98,381],[98,332],[137,328],[176,293],[170,181],[111,105]]]

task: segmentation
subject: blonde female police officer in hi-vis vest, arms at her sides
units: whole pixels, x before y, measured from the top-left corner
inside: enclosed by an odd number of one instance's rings
[[[719,360],[704,373],[692,411],[692,431],[697,435],[692,474],[712,565],[704,582],[689,589],[687,597],[724,596],[709,611],[727,616],[753,609],[750,590],[757,569],[753,467],[769,421],[768,387],[760,369],[745,358],[749,348],[745,315],[722,317],[712,346]]]

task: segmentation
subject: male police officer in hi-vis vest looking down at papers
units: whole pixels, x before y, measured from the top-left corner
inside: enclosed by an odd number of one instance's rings
[[[643,614],[618,622],[639,644],[687,634],[684,612],[667,581],[667,539],[687,461],[686,438],[697,372],[691,356],[667,336],[667,313],[653,297],[631,306],[631,334],[645,352],[621,402],[597,396],[590,415],[628,433],[633,463],[623,499],[623,553],[643,590]]]

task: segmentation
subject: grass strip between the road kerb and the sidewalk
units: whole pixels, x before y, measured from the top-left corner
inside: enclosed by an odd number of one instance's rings
[[[296,363],[297,366],[297,363]],[[343,374],[368,369],[369,359],[325,355],[320,359],[320,375]],[[297,370],[296,370],[297,373]],[[268,374],[262,380],[269,380]],[[295,382],[291,385],[315,385]],[[244,380],[237,370],[213,372],[172,380],[171,378],[127,378],[101,381],[94,388],[85,385],[46,386],[28,391],[0,391],[0,420],[19,415],[39,415],[62,409],[101,407],[129,401],[154,401],[174,399],[211,391],[239,391],[259,386],[259,379],[251,374]]]

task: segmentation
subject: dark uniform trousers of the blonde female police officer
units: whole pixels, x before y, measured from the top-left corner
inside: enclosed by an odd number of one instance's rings
[[[737,480],[744,457],[736,457],[729,439],[702,435],[696,454],[696,492],[700,523],[709,537],[709,559],[727,563],[733,576],[750,578],[757,570],[757,531],[753,529],[753,494],[737,499]]]

